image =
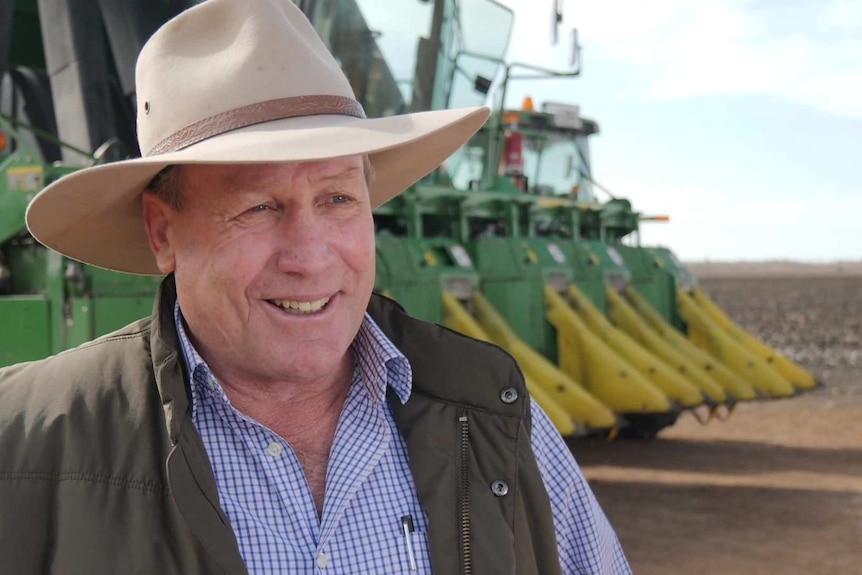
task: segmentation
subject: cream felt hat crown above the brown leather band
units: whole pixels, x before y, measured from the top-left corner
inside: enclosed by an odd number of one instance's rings
[[[354,99],[344,73],[290,0],[208,0],[162,26],[136,67],[146,156],[204,119],[298,96]]]

